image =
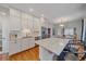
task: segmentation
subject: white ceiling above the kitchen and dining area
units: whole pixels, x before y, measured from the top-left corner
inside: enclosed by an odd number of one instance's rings
[[[27,13],[29,13],[29,9],[34,9],[33,14],[36,16],[44,14],[54,23],[59,22],[61,17],[65,20],[78,18],[84,11],[84,3],[10,3],[1,5],[9,5]]]

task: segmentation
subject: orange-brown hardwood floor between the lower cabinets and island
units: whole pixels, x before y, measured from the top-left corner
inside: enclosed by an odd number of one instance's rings
[[[39,47],[28,49],[17,54],[11,55],[10,61],[38,61],[39,60]]]

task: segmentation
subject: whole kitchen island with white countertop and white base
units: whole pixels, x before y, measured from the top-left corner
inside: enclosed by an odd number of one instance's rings
[[[52,61],[54,54],[60,55],[69,43],[69,39],[47,38],[38,40],[36,43],[39,44],[39,59],[41,61]]]

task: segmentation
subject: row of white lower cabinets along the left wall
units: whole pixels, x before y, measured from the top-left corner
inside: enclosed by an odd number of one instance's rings
[[[10,41],[9,46],[9,55],[12,55],[35,47],[35,40],[33,38],[26,38],[16,42]]]

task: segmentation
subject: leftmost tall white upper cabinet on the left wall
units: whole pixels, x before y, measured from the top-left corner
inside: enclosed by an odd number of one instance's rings
[[[14,9],[10,9],[10,30],[21,29],[21,12]]]

